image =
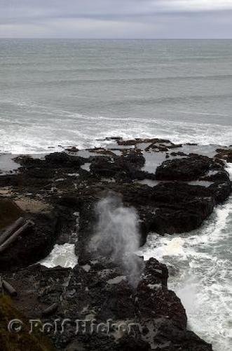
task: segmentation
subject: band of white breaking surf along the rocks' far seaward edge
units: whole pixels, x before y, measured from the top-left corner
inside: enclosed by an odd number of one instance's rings
[[[147,124],[146,124],[147,121]],[[11,124],[4,119],[0,131],[1,152],[46,153],[53,147],[60,150],[58,145],[85,147],[100,147],[106,145],[106,137],[121,136],[132,138],[167,138],[173,143],[198,143],[199,145],[230,145],[232,128],[210,124],[195,124],[176,121],[153,119],[138,121],[137,119],[117,119],[112,121],[107,117],[77,117],[73,121],[51,118],[47,123],[15,119]]]

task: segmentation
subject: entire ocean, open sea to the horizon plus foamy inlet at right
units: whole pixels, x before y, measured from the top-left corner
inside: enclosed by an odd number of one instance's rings
[[[118,135],[232,144],[232,40],[0,39],[0,77],[1,153]],[[174,267],[169,287],[214,351],[232,349],[231,232],[229,199],[198,230],[151,234],[141,251]]]

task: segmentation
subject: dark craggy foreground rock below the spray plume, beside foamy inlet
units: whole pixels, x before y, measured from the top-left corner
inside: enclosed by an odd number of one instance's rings
[[[186,330],[184,307],[166,287],[165,265],[149,260],[137,289],[123,277],[116,282],[121,274],[114,263],[103,260],[90,263],[88,270],[35,265],[5,278],[22,291],[15,303],[30,318],[70,321],[64,333],[48,333],[57,350],[212,350]],[[46,319],[41,312],[54,303],[58,308]],[[80,324],[76,333],[76,319],[92,321],[93,331],[87,323],[86,332]],[[96,329],[100,323],[104,328]]]

